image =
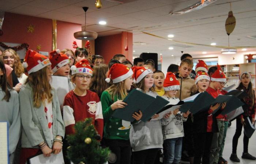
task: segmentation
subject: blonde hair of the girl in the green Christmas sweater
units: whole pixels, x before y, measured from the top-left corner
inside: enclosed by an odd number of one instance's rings
[[[123,100],[127,95],[127,90],[125,89],[124,81],[113,83],[106,91],[111,95],[112,100],[114,101],[114,96],[117,96],[118,99]]]

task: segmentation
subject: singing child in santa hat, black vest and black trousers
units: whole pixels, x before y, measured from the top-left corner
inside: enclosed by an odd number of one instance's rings
[[[197,71],[195,77],[195,83],[197,87],[197,93],[206,91],[210,85],[210,77],[206,72]],[[194,138],[194,164],[199,164],[202,159],[202,164],[209,164],[209,153],[212,143],[212,124],[208,124],[208,116],[212,116],[212,112],[218,109],[220,104],[211,106],[210,109],[204,112],[198,112],[193,114],[193,138]],[[209,130],[207,130],[209,129]]]

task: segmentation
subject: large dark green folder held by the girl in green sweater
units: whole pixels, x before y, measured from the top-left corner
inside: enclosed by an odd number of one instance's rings
[[[154,98],[136,89],[133,89],[127,97],[125,97],[123,102],[128,105],[125,106],[125,108],[116,109],[112,116],[130,122],[135,120],[132,117],[132,114],[135,112],[139,113],[139,110],[142,112],[142,118],[145,121],[149,120],[151,116],[169,103],[169,101],[166,101],[161,97]]]

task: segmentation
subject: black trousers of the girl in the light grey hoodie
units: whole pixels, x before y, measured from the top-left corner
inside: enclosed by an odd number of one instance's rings
[[[133,164],[154,164],[159,148],[132,152]]]

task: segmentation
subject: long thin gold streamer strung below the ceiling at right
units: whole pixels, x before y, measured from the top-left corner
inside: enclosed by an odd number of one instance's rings
[[[157,38],[162,38],[162,39],[166,39],[166,40],[171,40],[173,42],[178,42],[178,43],[183,43],[183,44],[190,44],[190,45],[195,45],[195,46],[207,46],[207,47],[216,47],[216,48],[256,48],[256,46],[239,46],[239,47],[228,47],[228,46],[211,46],[208,44],[198,44],[198,43],[191,43],[191,42],[182,42],[182,41],[178,41],[178,40],[173,40],[173,39],[168,39],[168,38],[164,38],[162,36],[158,36],[158,35],[154,35],[154,34],[150,34],[148,32],[144,32],[142,31],[143,34],[147,34],[147,35],[151,35],[151,36],[155,36]]]

